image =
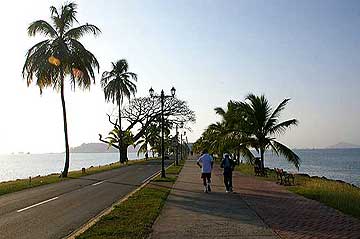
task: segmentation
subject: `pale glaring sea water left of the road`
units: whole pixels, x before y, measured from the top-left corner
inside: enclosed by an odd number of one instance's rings
[[[129,160],[144,158],[128,153]],[[118,153],[70,154],[70,170],[79,170],[119,161]],[[0,182],[14,179],[60,173],[64,169],[64,153],[0,155]]]

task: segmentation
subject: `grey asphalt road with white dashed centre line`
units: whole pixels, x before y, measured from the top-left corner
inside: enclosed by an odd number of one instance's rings
[[[149,161],[1,196],[0,238],[63,238],[160,168]]]

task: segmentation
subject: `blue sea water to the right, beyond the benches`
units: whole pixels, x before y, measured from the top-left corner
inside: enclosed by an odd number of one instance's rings
[[[271,151],[265,153],[265,167],[325,176],[360,187],[360,149],[299,149],[294,152],[301,159],[299,171]]]

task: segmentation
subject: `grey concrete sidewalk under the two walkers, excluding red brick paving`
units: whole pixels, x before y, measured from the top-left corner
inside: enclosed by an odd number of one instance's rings
[[[186,161],[150,238],[279,238],[243,200],[225,193],[221,171],[204,193],[195,161]]]

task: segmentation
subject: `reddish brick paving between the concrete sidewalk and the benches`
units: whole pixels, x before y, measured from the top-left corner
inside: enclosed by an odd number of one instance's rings
[[[286,190],[274,182],[234,175],[250,207],[281,238],[360,239],[360,220]]]

